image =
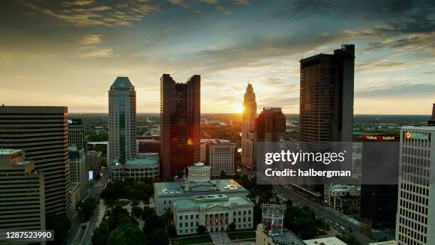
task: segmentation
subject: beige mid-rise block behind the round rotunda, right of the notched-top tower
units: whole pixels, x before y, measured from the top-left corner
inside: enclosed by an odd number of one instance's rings
[[[210,166],[211,176],[235,174],[236,145],[228,140],[201,139],[201,153],[203,151],[204,163]]]

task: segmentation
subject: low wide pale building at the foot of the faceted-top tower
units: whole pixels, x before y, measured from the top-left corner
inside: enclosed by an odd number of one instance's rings
[[[127,160],[124,164],[116,160],[107,165],[110,179],[119,181],[123,179],[156,179],[159,177],[159,154],[140,153],[136,158]]]

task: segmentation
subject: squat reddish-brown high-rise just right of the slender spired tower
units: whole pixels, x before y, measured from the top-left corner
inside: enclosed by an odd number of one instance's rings
[[[277,142],[286,132],[286,116],[281,108],[263,108],[257,118],[257,142]]]

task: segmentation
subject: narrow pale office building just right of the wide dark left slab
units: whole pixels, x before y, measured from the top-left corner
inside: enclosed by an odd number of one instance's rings
[[[70,158],[70,183],[79,184],[80,200],[85,198],[87,192],[88,172],[86,167],[85,149],[77,150],[77,147],[68,147],[68,156]]]

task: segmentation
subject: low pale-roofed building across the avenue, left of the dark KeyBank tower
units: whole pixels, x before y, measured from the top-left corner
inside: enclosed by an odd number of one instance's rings
[[[340,213],[360,211],[361,187],[359,185],[326,184],[325,204]]]

